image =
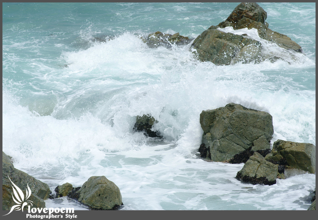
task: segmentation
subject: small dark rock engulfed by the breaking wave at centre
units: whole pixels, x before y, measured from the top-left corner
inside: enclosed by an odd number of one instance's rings
[[[152,125],[156,123],[158,123],[158,121],[151,115],[137,116],[134,131],[143,131],[146,136],[152,138],[162,138],[159,131],[151,131]]]

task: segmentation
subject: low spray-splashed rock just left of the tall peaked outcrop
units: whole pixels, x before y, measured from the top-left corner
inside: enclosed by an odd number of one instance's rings
[[[175,34],[165,34],[160,31],[151,33],[147,38],[142,38],[142,40],[147,43],[150,48],[157,48],[158,46],[164,46],[171,48],[173,44],[176,45],[186,45],[191,42],[192,39],[188,37],[183,37],[179,33]]]

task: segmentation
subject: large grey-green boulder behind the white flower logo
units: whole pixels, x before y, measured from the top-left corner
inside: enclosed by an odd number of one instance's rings
[[[9,179],[10,178],[10,179]],[[34,177],[24,173],[21,170],[14,168],[9,157],[2,152],[2,209],[10,210],[13,205],[17,205],[13,201],[12,194],[13,184],[11,181],[23,191],[26,197],[27,187],[31,189],[31,196],[28,200],[33,202],[35,208],[44,208],[43,200],[49,198],[50,188],[46,183],[36,180]]]

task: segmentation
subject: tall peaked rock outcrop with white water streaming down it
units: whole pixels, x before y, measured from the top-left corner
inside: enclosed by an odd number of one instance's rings
[[[190,50],[195,49],[193,53],[197,54],[199,60],[211,61],[216,65],[230,65],[238,62],[259,63],[265,59],[275,60],[275,58],[263,57],[263,48],[259,41],[250,39],[245,34],[241,36],[217,30],[231,26],[234,30],[256,28],[261,39],[276,43],[287,50],[302,52],[301,46],[289,37],[269,29],[268,23],[265,22],[266,18],[266,11],[258,4],[241,3],[225,21],[217,26],[212,25],[201,33],[193,41]]]

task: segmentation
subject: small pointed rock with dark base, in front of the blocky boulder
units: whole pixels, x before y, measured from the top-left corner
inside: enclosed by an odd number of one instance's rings
[[[252,184],[273,185],[276,183],[278,168],[276,165],[268,162],[262,155],[255,152],[249,160],[246,161],[242,170],[240,170],[236,179]]]

